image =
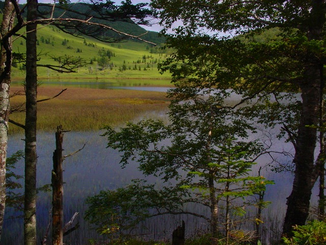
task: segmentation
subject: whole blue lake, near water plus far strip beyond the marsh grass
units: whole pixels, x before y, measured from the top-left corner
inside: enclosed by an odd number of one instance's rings
[[[129,81],[130,82],[130,81]],[[125,82],[128,83],[128,82]],[[45,82],[44,82],[45,84]],[[95,85],[94,85],[95,84]],[[56,83],[58,85],[58,83]],[[150,91],[166,91],[167,87],[132,87],[132,85],[122,86],[119,84],[107,83],[80,83],[73,84],[74,86],[100,86],[103,89],[113,87],[125,89],[151,89]],[[119,86],[118,86],[119,85]],[[63,86],[67,86],[64,83]],[[70,85],[69,85],[70,86]],[[131,87],[130,87],[131,86]],[[144,115],[143,115],[144,116]],[[163,113],[157,115],[158,117],[165,115]],[[142,116],[140,116],[142,117]],[[273,132],[271,132],[273,134]],[[137,163],[131,163],[126,168],[121,169],[119,165],[120,154],[112,149],[106,149],[106,139],[100,136],[100,131],[90,132],[67,132],[64,136],[64,155],[72,153],[87,142],[85,148],[77,154],[68,157],[64,161],[64,216],[66,222],[70,219],[74,212],[80,212],[79,229],[69,235],[67,244],[85,244],[90,238],[101,239],[101,237],[94,231],[89,229],[89,225],[84,221],[84,211],[86,209],[85,199],[89,195],[94,195],[103,189],[115,189],[123,187],[130,183],[131,179],[142,178],[141,173],[137,170]],[[257,135],[252,137],[259,137]],[[23,135],[10,135],[8,142],[8,156],[18,150],[24,149],[24,142],[21,140]],[[291,145],[282,141],[275,143],[275,149],[291,149]],[[51,182],[52,169],[52,153],[55,150],[55,132],[45,133],[39,132],[37,139],[37,185],[38,187],[49,184]],[[270,160],[267,157],[261,157],[257,160],[259,165],[255,166],[253,175],[258,174],[259,166],[265,166]],[[291,161],[290,158],[281,158],[280,161]],[[18,174],[23,174],[23,161],[17,165]],[[271,201],[267,209],[264,210],[265,223],[263,226],[265,233],[274,229],[276,233],[282,228],[283,216],[286,211],[286,197],[290,194],[292,187],[292,175],[289,173],[277,174],[271,172],[268,167],[262,170],[262,175],[269,180],[275,180],[275,185],[267,187],[265,200]],[[156,182],[155,178],[149,178],[149,181]],[[312,201],[316,202],[317,190],[313,192]],[[45,234],[48,225],[48,216],[51,204],[51,193],[40,193],[37,201],[37,221],[39,236]],[[6,212],[6,220],[3,228],[2,244],[22,244],[22,218],[9,218],[12,215],[11,211]],[[274,220],[271,222],[268,217]],[[206,230],[207,224],[192,219],[191,217],[167,217],[166,219],[152,220],[152,223],[147,225],[149,230],[139,230],[140,233],[147,234],[153,239],[170,238],[172,231],[176,226],[180,225],[181,220],[185,220],[186,231],[192,233],[196,230]],[[163,221],[162,221],[163,220]],[[194,223],[196,223],[194,225]]]

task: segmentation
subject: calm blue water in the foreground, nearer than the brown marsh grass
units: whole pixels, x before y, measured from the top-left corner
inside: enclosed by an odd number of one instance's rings
[[[21,140],[23,135],[13,135],[9,140],[9,155],[23,150],[24,144]],[[88,229],[87,223],[82,219],[85,211],[84,201],[89,195],[94,195],[102,189],[115,189],[123,187],[130,183],[131,179],[141,178],[141,173],[137,170],[137,163],[131,163],[126,168],[119,165],[120,154],[112,149],[106,149],[106,139],[100,136],[100,132],[67,132],[64,136],[64,155],[80,149],[87,142],[83,151],[68,157],[64,161],[64,207],[66,221],[74,212],[80,212],[79,222],[80,228],[70,238],[72,244],[82,244],[82,240],[86,237],[97,237],[94,231]],[[37,166],[37,185],[40,187],[51,182],[52,154],[55,150],[55,133],[38,133],[38,166]],[[263,164],[264,159],[259,162]],[[267,159],[265,159],[267,161]],[[18,163],[17,169],[20,174],[23,171],[23,161]],[[258,166],[255,171],[258,171]],[[276,181],[275,185],[268,186],[265,199],[271,201],[272,204],[265,210],[266,215],[276,215],[282,220],[285,211],[286,197],[291,190],[292,178],[290,175],[276,175],[265,171],[262,173],[266,178]],[[154,178],[149,181],[156,182]],[[41,193],[38,198],[38,232],[45,233],[48,224],[48,212],[50,210],[50,194]],[[8,213],[7,213],[8,214]],[[173,222],[178,224],[180,218],[176,218]],[[171,221],[171,220],[170,220]],[[161,224],[161,222],[160,222]],[[186,223],[187,230],[193,230],[194,224]],[[167,234],[172,234],[174,227],[167,225],[164,227]],[[207,224],[202,224],[201,229],[206,229]],[[22,229],[22,219],[8,219],[4,226],[3,234],[6,239],[8,230]],[[158,229],[158,228],[157,228]],[[87,231],[87,232],[86,232]],[[15,233],[16,233],[15,232]],[[10,232],[9,232],[10,233]],[[12,234],[14,235],[14,234]],[[21,236],[18,233],[18,236]],[[156,235],[157,236],[157,235]],[[17,238],[17,233],[14,235]],[[8,237],[7,237],[8,238]],[[22,236],[20,237],[22,239]],[[160,237],[162,238],[162,237]],[[16,240],[8,238],[4,244],[20,244]],[[69,244],[69,243],[68,243]]]

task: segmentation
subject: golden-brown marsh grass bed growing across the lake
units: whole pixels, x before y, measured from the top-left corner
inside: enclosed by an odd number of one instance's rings
[[[12,87],[12,93],[21,87]],[[62,88],[41,86],[38,100],[58,94]],[[24,103],[24,96],[11,98],[11,105]],[[55,99],[38,103],[37,127],[41,131],[55,131],[58,125],[72,131],[99,130],[103,125],[118,126],[139,115],[167,108],[169,99],[163,92],[125,89],[68,88]],[[24,124],[24,113],[13,113],[10,118]],[[9,133],[22,132],[10,125]]]

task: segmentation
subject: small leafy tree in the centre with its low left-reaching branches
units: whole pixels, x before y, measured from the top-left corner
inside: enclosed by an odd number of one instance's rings
[[[174,100],[168,125],[149,119],[128,122],[119,131],[104,128],[107,146],[122,152],[122,167],[137,161],[145,176],[160,178],[162,185],[137,180],[89,198],[87,218],[99,230],[110,224],[127,229],[151,216],[189,214],[210,222],[215,234],[218,213],[205,216],[187,204],[217,210],[219,202],[228,202],[239,210],[234,200],[246,200],[271,183],[248,176],[254,164],[250,159],[262,145],[245,140],[251,122],[223,107],[218,91],[181,82],[169,96]]]

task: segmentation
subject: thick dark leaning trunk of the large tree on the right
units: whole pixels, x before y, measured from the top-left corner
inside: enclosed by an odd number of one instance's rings
[[[311,1],[310,16],[303,23],[309,41],[323,39],[323,27],[326,22],[326,4],[322,0]],[[317,129],[307,126],[318,126],[320,100],[323,84],[323,63],[307,48],[303,61],[303,81],[299,84],[302,96],[302,111],[295,142],[294,180],[292,192],[287,200],[283,233],[289,234],[294,225],[304,225],[309,214],[311,190],[317,180],[320,166],[314,165],[314,152]]]

